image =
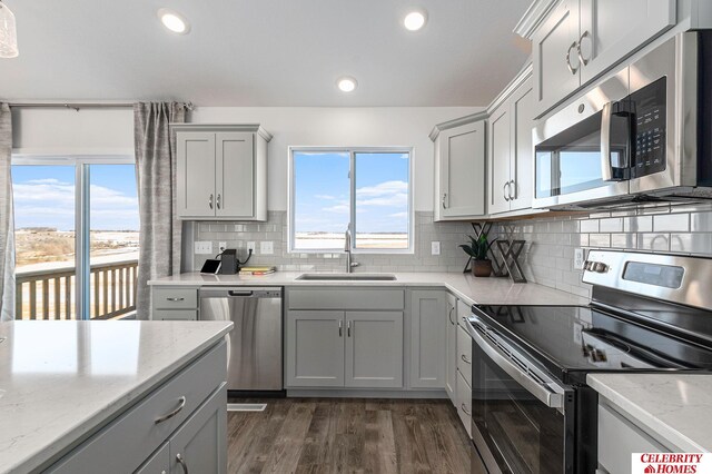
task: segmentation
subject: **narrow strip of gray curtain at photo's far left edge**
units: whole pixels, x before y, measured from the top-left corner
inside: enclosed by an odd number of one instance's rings
[[[14,215],[12,209],[12,118],[0,103],[0,320],[14,319]]]

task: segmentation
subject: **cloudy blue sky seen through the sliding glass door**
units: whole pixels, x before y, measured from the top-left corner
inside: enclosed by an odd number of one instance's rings
[[[134,165],[90,165],[91,230],[138,230]],[[75,230],[75,167],[12,166],[14,227]]]

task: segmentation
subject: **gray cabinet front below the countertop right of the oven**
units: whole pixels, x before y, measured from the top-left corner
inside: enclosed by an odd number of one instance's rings
[[[599,463],[611,473],[631,472],[631,453],[670,450],[605,405],[599,405]]]

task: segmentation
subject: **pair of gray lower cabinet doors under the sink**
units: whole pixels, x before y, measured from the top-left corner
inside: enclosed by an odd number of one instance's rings
[[[289,310],[287,386],[403,387],[403,312]]]

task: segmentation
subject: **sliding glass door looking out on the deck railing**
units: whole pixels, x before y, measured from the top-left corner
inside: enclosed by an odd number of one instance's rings
[[[136,309],[139,214],[131,157],[13,157],[18,319]]]

